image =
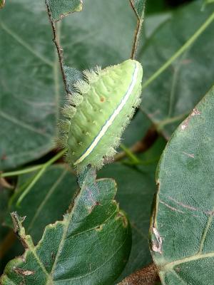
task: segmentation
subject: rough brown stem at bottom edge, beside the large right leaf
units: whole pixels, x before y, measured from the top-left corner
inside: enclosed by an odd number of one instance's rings
[[[158,269],[155,264],[150,264],[126,277],[118,285],[155,285],[158,280]]]

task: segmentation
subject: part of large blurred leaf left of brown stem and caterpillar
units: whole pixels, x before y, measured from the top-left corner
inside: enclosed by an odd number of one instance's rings
[[[0,14],[0,37],[3,170],[54,147],[61,75],[43,1],[10,1]]]

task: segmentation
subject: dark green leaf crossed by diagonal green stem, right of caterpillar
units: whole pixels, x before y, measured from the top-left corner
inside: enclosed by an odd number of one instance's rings
[[[144,80],[168,61],[213,13],[213,5],[200,11],[200,1],[172,12],[139,52]],[[214,23],[188,50],[173,61],[161,76],[143,90],[142,108],[158,129],[169,138],[194,105],[213,84]],[[206,44],[205,44],[206,43]],[[146,81],[145,81],[146,82]]]

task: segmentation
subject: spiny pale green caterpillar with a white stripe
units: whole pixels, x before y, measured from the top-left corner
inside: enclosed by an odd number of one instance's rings
[[[85,80],[75,83],[77,93],[68,96],[62,110],[66,120],[59,124],[60,144],[68,148],[68,162],[77,172],[87,165],[100,169],[113,158],[141,102],[143,69],[141,63],[128,59],[83,74]]]

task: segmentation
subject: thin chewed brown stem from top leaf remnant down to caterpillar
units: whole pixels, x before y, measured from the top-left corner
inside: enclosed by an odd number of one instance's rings
[[[52,27],[52,30],[54,33],[53,41],[55,43],[56,51],[58,53],[58,60],[59,60],[60,67],[61,67],[63,83],[64,83],[64,86],[66,89],[66,93],[69,93],[68,88],[67,88],[67,84],[66,84],[66,74],[64,73],[64,70],[63,70],[63,48],[61,48],[60,43],[59,43],[59,38],[57,35],[57,29],[56,29],[56,21],[54,21],[51,17],[51,10],[50,10],[49,4],[47,2],[46,2],[46,7],[47,7],[48,15],[49,15],[49,21],[51,23],[51,27]]]

